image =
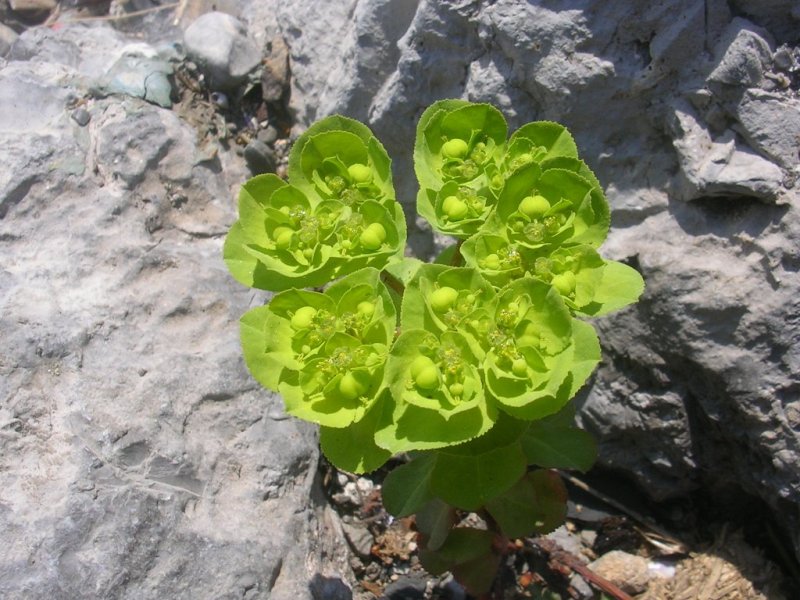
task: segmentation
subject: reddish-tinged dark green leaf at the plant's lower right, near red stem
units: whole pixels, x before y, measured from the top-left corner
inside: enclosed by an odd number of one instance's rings
[[[567,514],[567,490],[558,473],[528,473],[486,506],[503,533],[510,538],[549,533]]]

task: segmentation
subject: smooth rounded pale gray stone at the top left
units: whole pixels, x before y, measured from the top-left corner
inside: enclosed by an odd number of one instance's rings
[[[247,36],[244,24],[225,13],[202,15],[186,28],[183,41],[214,89],[237,87],[261,61],[261,50]]]

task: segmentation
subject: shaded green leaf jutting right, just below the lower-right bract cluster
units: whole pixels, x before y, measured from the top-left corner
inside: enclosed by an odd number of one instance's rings
[[[534,422],[522,437],[529,464],[552,469],[588,471],[597,458],[597,447],[589,433],[577,427],[552,427]]]

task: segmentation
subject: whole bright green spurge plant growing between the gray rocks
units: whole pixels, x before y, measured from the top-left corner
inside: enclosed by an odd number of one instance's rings
[[[385,480],[385,506],[416,514],[423,564],[475,593],[508,539],[563,521],[553,469],[594,461],[569,403],[600,359],[579,317],[644,287],[597,252],[608,204],[569,132],[535,122],[507,133],[487,104],[423,113],[417,209],[459,240],[433,264],[404,257],[389,157],[339,116],[300,136],[288,183],[244,184],[224,248],[237,280],[278,292],[241,320],[252,374],[320,425],[337,467],[366,472],[408,453]],[[462,525],[464,511],[486,529]]]

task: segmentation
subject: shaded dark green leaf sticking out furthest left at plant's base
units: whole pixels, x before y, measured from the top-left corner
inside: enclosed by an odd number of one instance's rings
[[[395,517],[407,517],[419,511],[433,498],[431,472],[436,463],[433,454],[425,453],[395,467],[383,482],[383,506]]]

